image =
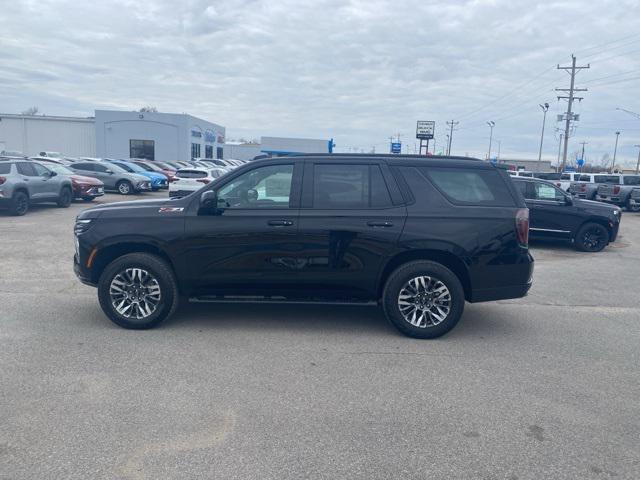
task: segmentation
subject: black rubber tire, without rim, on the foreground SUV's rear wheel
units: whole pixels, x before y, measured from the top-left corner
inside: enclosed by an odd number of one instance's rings
[[[405,319],[401,312],[400,294],[412,279],[418,277],[429,277],[435,285],[439,285],[437,282],[440,282],[448,290],[449,300],[444,302],[442,297],[440,301],[443,303],[438,306],[432,305],[433,298],[429,298],[426,301],[424,298],[419,300],[426,302],[422,306],[427,307],[430,311],[433,312],[432,309],[436,309],[436,314],[440,312],[437,310],[438,307],[443,307],[446,310],[445,304],[448,306],[448,313],[442,320],[438,320],[438,323],[435,323],[436,320],[431,314],[423,313],[424,326],[413,325],[408,319]],[[440,289],[439,286],[438,289]],[[417,296],[414,298],[417,298]],[[433,301],[438,301],[438,299],[436,298]],[[456,274],[440,263],[427,260],[409,262],[398,267],[387,279],[382,294],[382,307],[387,319],[402,333],[413,338],[437,338],[447,333],[460,320],[464,311],[464,302],[464,288],[462,288],[460,279]],[[420,317],[417,321],[422,324]]]

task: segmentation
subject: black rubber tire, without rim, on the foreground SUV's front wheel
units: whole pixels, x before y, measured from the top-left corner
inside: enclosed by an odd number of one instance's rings
[[[114,302],[118,303],[119,299],[112,298],[110,292],[114,278],[132,268],[142,269],[150,274],[157,281],[160,290],[160,298],[155,310],[144,318],[133,318],[118,312]],[[116,286],[116,288],[119,287]],[[164,260],[148,253],[130,253],[116,258],[104,269],[98,281],[98,299],[102,311],[113,323],[124,328],[142,330],[153,328],[170,317],[178,307],[180,296],[173,272]],[[127,313],[133,310],[132,307]]]

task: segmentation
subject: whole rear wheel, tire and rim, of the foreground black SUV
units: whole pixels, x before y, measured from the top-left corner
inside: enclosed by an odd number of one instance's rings
[[[409,262],[389,276],[382,305],[389,321],[405,335],[436,338],[460,320],[464,289],[456,274],[440,263]]]

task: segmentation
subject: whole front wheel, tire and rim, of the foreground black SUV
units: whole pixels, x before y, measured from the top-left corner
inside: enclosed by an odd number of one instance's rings
[[[130,253],[104,269],[98,298],[115,324],[146,329],[173,314],[179,295],[173,272],[164,260],[148,253]]]

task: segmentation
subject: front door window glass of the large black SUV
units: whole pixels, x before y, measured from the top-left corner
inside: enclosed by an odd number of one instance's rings
[[[255,168],[227,183],[218,191],[225,208],[289,208],[293,165]]]

